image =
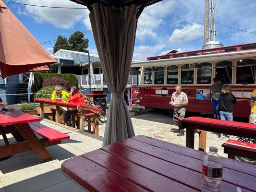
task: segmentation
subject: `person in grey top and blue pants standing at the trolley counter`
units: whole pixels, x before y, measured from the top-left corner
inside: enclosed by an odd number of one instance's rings
[[[211,91],[211,103],[212,103],[212,113],[214,116],[214,119],[219,119],[219,111],[216,110],[216,107],[219,105],[219,95],[221,93],[221,89],[224,86],[224,84],[221,84],[218,77],[213,78],[214,84],[211,85],[210,91]]]

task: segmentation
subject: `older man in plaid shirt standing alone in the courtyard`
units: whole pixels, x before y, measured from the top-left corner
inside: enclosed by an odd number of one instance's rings
[[[176,92],[174,92],[171,96],[170,104],[174,106],[173,111],[173,120],[176,122],[177,126],[179,127],[179,133],[177,136],[183,136],[184,130],[181,130],[181,122],[180,120],[184,119],[186,108],[185,106],[188,105],[188,98],[187,95],[182,92],[181,86],[175,87]]]

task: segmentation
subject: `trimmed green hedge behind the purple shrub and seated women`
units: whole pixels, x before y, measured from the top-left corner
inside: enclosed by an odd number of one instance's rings
[[[36,84],[36,90],[39,90],[42,88],[42,83],[44,80],[48,79],[49,77],[62,77],[65,79],[69,86],[76,86],[78,87],[78,82],[75,74],[73,73],[66,73],[66,74],[59,74],[59,73],[47,73],[47,72],[35,72],[35,84]]]

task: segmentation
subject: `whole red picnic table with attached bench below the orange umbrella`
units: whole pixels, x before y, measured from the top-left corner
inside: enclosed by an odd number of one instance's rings
[[[60,144],[62,139],[69,136],[37,123],[41,119],[22,111],[5,107],[7,110],[0,112],[0,134],[5,145],[0,146],[0,157],[33,150],[41,161],[51,159],[45,149],[46,146]],[[0,108],[1,110],[2,108]],[[35,132],[43,137],[39,140]],[[10,144],[6,134],[11,133],[17,143]]]

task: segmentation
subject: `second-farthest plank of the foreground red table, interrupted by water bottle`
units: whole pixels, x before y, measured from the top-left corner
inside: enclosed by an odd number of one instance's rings
[[[122,140],[119,143],[137,151],[141,151],[148,155],[155,156],[165,161],[182,166],[184,168],[189,168],[199,173],[202,172],[202,160],[168,151],[153,145],[145,144],[134,139]],[[244,163],[243,166],[247,166],[247,164]],[[256,168],[254,168],[254,170],[256,173]],[[255,176],[252,176],[224,167],[222,180],[234,185],[241,186],[248,190],[254,191],[256,189],[256,174]]]

